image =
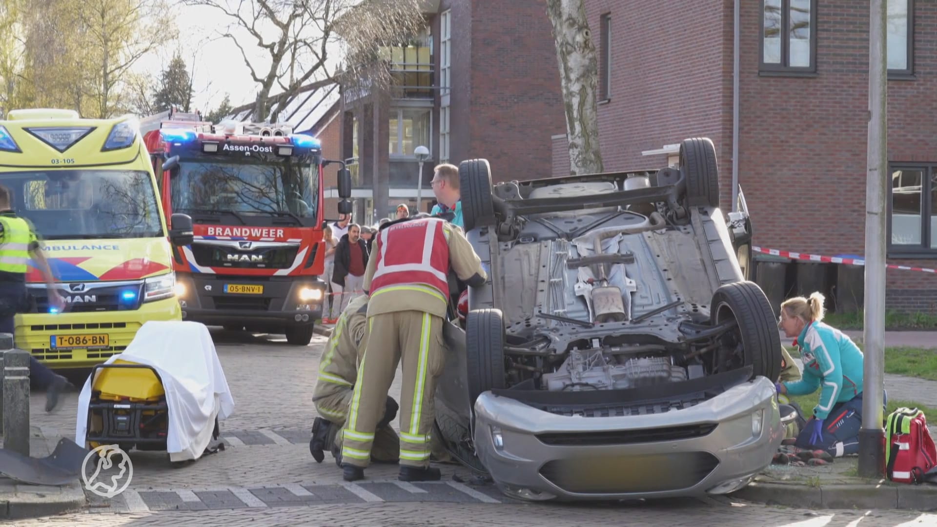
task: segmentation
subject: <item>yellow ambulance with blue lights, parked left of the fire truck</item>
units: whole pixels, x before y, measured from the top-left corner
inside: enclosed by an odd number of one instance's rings
[[[172,245],[192,243],[192,220],[157,198],[135,117],[82,119],[70,110],[15,110],[0,120],[0,185],[32,222],[66,301],[50,306],[37,264],[16,347],[53,369],[84,369],[119,354],[146,321],[182,320]]]

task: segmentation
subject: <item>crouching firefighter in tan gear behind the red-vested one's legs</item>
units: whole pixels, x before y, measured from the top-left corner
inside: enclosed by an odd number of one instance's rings
[[[313,421],[312,439],[309,441],[309,452],[317,462],[325,459],[324,450],[328,449],[335,457],[335,462],[341,466],[341,436],[338,432],[345,424],[354,393],[358,360],[364,352],[366,327],[367,296],[363,294],[351,300],[338,317],[319,362],[319,378],[312,402],[321,417]],[[380,411],[371,459],[381,463],[395,463],[400,452],[400,438],[391,427],[391,421],[397,414],[396,401],[388,396]]]

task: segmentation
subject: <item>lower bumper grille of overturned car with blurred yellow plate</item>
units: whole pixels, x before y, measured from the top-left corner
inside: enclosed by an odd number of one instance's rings
[[[540,469],[550,483],[582,494],[662,492],[690,489],[719,466],[708,452],[574,457],[547,461]]]

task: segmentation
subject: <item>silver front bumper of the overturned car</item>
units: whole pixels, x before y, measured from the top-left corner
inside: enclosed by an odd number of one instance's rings
[[[502,492],[527,500],[732,492],[770,464],[784,437],[764,377],[661,414],[565,416],[491,392],[476,400],[475,414],[479,459]]]

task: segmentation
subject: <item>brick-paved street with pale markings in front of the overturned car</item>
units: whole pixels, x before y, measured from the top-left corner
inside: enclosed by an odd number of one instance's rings
[[[468,471],[457,465],[440,465],[439,482],[407,484],[396,480],[395,465],[375,464],[364,481],[348,484],[330,455],[316,463],[308,451],[316,415],[312,390],[325,338],[316,336],[308,347],[296,347],[282,336],[215,330],[213,337],[235,401],[234,414],[221,422],[225,450],[181,467],[172,466],[165,453],[133,452],[133,479],[123,494],[105,499],[89,492],[87,512],[13,524],[455,526],[612,521],[806,527],[923,525],[923,519],[937,524],[933,515],[812,513],[733,504],[726,498],[639,505],[522,504],[493,486],[473,485]],[[75,381],[83,383],[81,378]],[[395,382],[391,394],[399,398],[399,391]],[[77,394],[70,394],[54,414],[44,412],[43,394],[34,394],[31,402],[33,423],[47,436],[73,435]]]

